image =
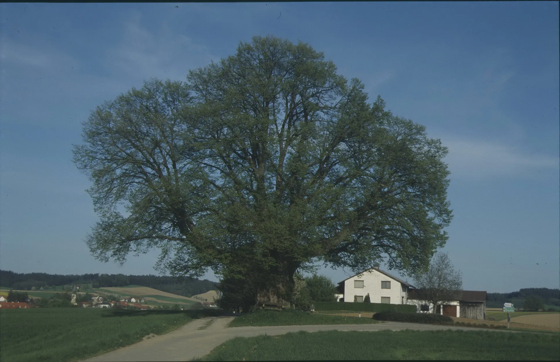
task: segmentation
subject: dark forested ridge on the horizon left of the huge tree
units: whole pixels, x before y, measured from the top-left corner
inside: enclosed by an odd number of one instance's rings
[[[46,273],[16,273],[0,270],[0,286],[16,290],[31,290],[54,285],[91,284],[92,288],[104,286],[125,286],[129,284],[148,286],[162,292],[192,297],[193,295],[216,290],[216,282],[207,279],[179,279],[173,276],[124,275],[124,274],[82,274],[59,275]]]

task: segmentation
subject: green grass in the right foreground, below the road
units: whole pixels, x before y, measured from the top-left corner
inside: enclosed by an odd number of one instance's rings
[[[236,337],[202,361],[558,360],[560,336],[486,331],[321,331]]]

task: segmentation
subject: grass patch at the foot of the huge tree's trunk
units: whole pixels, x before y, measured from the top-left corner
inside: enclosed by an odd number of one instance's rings
[[[326,314],[294,311],[263,311],[241,314],[228,327],[246,326],[304,326],[304,325],[369,325],[379,323],[371,318],[328,316]]]

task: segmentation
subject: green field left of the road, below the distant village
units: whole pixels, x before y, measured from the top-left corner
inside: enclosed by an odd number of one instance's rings
[[[160,335],[216,311],[108,311],[34,308],[0,311],[2,362],[86,359]]]

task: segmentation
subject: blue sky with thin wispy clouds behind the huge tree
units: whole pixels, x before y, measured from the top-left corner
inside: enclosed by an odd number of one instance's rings
[[[323,51],[449,147],[455,217],[443,251],[464,289],[560,285],[558,2],[2,3],[0,13],[2,270],[156,274],[156,252],[120,267],[83,242],[97,217],[71,161],[81,123],[150,77],[184,80],[270,34]]]

